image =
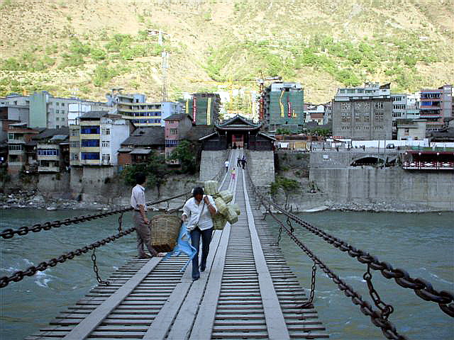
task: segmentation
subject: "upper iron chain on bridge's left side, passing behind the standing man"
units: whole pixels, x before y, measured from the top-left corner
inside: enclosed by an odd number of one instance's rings
[[[150,202],[147,203],[147,205],[155,205],[157,203],[162,203],[162,202],[168,202],[169,200],[173,200],[175,198],[179,198],[182,196],[186,196],[189,192],[179,194],[177,196],[172,196],[170,198],[165,198],[163,200],[157,200],[155,202]],[[58,228],[61,227],[62,225],[72,225],[72,224],[77,224],[80,222],[87,222],[87,221],[92,221],[96,220],[99,218],[111,216],[111,215],[116,215],[116,214],[123,214],[123,212],[131,211],[133,208],[123,208],[123,209],[118,209],[118,210],[112,210],[108,212],[101,212],[100,214],[94,214],[94,215],[87,215],[87,216],[78,216],[78,217],[72,217],[72,218],[67,218],[65,220],[56,220],[53,222],[44,222],[44,223],[37,223],[33,225],[32,227],[20,227],[16,230],[14,229],[4,229],[2,232],[0,232],[0,237],[3,237],[4,239],[11,239],[11,237],[14,237],[15,235],[18,236],[23,236],[28,234],[29,232],[40,232],[41,230],[50,230],[52,228]]]

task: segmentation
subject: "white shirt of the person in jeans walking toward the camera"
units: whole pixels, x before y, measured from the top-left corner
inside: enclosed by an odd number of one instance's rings
[[[209,195],[204,195],[204,197],[205,196],[208,197],[209,203],[217,212],[218,209],[216,208],[216,204],[214,204],[214,199]],[[199,204],[197,204],[196,199],[194,197],[189,198],[189,200],[187,200],[186,203],[184,203],[183,215],[186,215],[188,217],[188,220],[186,221],[187,222],[186,226],[189,231],[195,229],[197,221],[199,221],[199,229],[201,230],[206,230],[213,227],[213,220],[211,219],[211,214],[208,209],[208,205],[206,203],[204,204],[203,198]]]

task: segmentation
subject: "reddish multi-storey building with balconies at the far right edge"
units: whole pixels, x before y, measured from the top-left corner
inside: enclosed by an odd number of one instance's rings
[[[445,120],[453,118],[453,86],[446,84],[438,89],[422,89],[419,114],[427,120],[427,134],[441,130]]]

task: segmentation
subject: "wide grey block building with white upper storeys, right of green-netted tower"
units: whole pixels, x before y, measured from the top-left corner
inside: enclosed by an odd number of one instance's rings
[[[352,140],[390,140],[392,99],[389,84],[338,89],[333,99],[333,136]]]

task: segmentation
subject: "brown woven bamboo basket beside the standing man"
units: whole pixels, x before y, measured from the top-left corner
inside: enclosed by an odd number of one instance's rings
[[[175,215],[155,215],[151,219],[150,243],[157,252],[172,251],[177,244],[182,221]]]

